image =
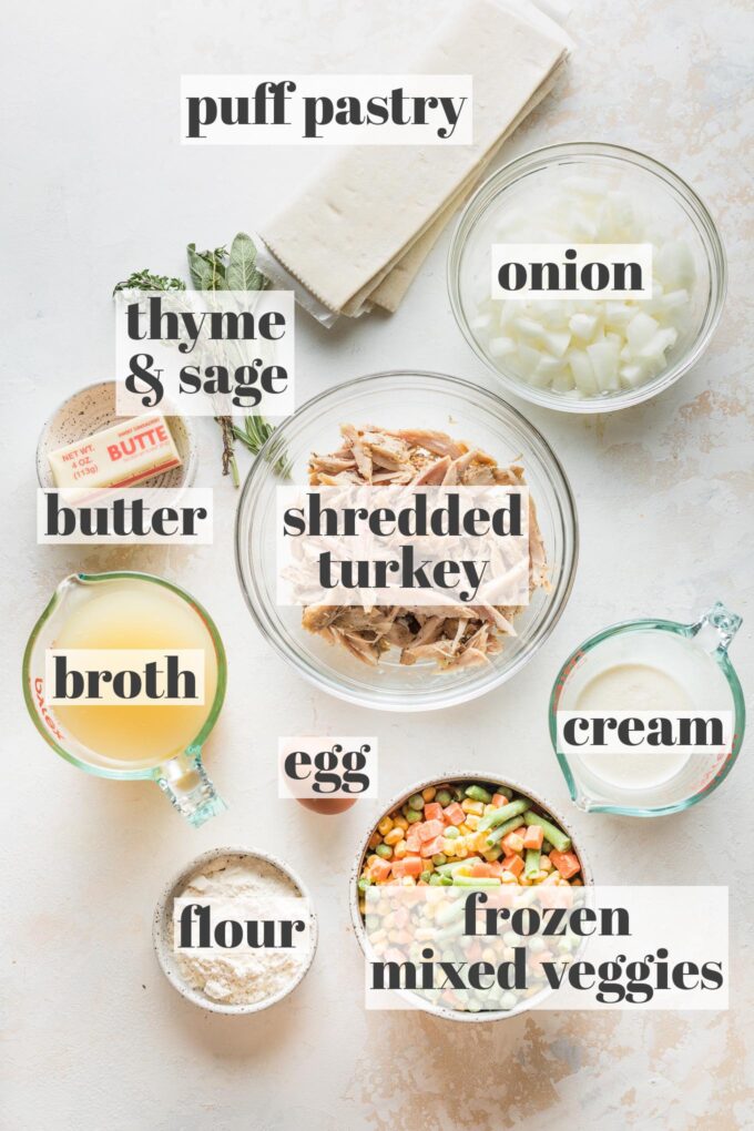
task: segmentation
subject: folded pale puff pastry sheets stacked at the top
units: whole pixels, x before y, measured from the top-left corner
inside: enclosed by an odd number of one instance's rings
[[[321,320],[395,311],[499,146],[552,87],[571,43],[530,5],[462,0],[407,74],[474,76],[474,145],[353,146],[260,235],[260,268],[284,268]],[[300,290],[300,288],[297,288]],[[312,300],[314,300],[312,302]],[[329,316],[329,317],[328,317]]]

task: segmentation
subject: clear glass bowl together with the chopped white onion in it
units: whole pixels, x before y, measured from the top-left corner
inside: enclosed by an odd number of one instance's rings
[[[674,385],[707,349],[726,280],[693,189],[651,157],[596,143],[537,149],[489,176],[448,259],[475,353],[509,391],[571,413],[626,408]]]

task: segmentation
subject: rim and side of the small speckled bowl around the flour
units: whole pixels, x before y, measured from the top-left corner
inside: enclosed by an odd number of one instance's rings
[[[298,976],[291,983],[291,985],[280,990],[279,993],[274,994],[270,998],[265,998],[262,1001],[255,1001],[248,1005],[224,1005],[223,1002],[213,1001],[211,998],[207,998],[207,995],[200,990],[194,990],[193,986],[188,985],[181,976],[175,951],[173,949],[173,900],[180,896],[181,891],[192,875],[196,875],[197,872],[200,872],[207,866],[207,864],[213,863],[213,861],[222,860],[223,857],[227,857],[232,861],[262,861],[266,864],[270,864],[284,877],[286,877],[298,893],[309,903],[311,950],[309,952],[306,964],[302,967]],[[304,884],[303,880],[277,856],[272,856],[270,853],[261,852],[259,848],[210,848],[209,852],[202,853],[200,856],[197,856],[189,864],[187,864],[185,867],[181,869],[177,875],[174,875],[170,883],[167,883],[164,888],[162,896],[157,900],[157,907],[155,908],[151,940],[155,947],[155,953],[157,955],[157,961],[159,962],[163,974],[173,988],[177,990],[181,996],[185,998],[187,1001],[190,1001],[192,1005],[198,1005],[200,1009],[206,1009],[211,1013],[234,1013],[236,1016],[242,1013],[259,1013],[261,1010],[269,1009],[270,1005],[275,1005],[278,1001],[283,1001],[284,998],[287,998],[311,969],[318,941],[317,914],[312,904],[311,892]]]

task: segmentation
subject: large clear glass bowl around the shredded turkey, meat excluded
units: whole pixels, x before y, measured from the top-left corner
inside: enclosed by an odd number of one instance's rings
[[[344,423],[428,428],[478,444],[499,463],[520,459],[537,506],[552,589],[537,590],[517,620],[518,636],[482,667],[437,672],[400,666],[388,653],[370,667],[301,624],[301,608],[276,604],[276,487],[307,483],[313,451],[335,451]],[[249,473],[236,515],[236,566],[246,604],[262,633],[297,672],[329,694],[382,710],[431,710],[485,694],[541,647],[567,601],[578,554],[577,515],[563,469],[541,435],[514,408],[484,389],[441,373],[375,373],[320,394],[267,441]]]

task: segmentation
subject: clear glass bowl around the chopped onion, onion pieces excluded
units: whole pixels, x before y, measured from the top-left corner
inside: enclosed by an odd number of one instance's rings
[[[479,287],[487,286],[489,248],[501,239],[495,235],[496,215],[501,205],[520,204],[526,208],[527,195],[532,190],[555,185],[561,176],[574,173],[587,176],[599,176],[601,173],[609,180],[619,175],[622,189],[635,191],[648,204],[651,201],[653,223],[660,231],[667,232],[669,238],[681,239],[686,243],[696,275],[686,327],[669,351],[665,369],[633,389],[581,399],[571,399],[567,394],[529,385],[510,365],[506,366],[504,357],[493,357],[471,329],[477,313]],[[540,242],[548,242],[545,234]],[[622,146],[599,143],[578,141],[535,149],[493,173],[466,205],[448,256],[451,307],[461,333],[474,352],[508,391],[546,408],[567,413],[614,412],[638,405],[669,388],[707,349],[722,312],[726,286],[726,256],[720,235],[705,205],[693,189],[651,157]]]

